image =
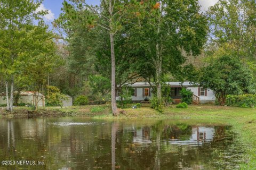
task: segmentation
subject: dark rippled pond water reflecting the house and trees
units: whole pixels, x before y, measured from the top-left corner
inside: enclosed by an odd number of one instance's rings
[[[0,169],[238,169],[235,138],[231,126],[188,120],[0,120],[0,160],[15,161]]]

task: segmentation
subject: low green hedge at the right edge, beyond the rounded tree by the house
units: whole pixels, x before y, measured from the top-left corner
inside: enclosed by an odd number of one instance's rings
[[[239,107],[255,107],[256,95],[228,95],[226,105]]]

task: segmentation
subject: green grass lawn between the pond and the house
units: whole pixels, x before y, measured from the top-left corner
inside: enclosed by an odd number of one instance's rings
[[[15,108],[15,113],[28,108]],[[134,121],[154,118],[154,119],[179,119],[180,121],[195,121],[204,123],[225,123],[233,126],[241,142],[249,155],[249,162],[241,165],[241,169],[256,169],[256,109],[239,108],[227,106],[193,105],[187,109],[176,108],[175,105],[165,108],[165,112],[158,113],[150,107],[138,109],[124,109],[124,114],[113,117],[109,113],[108,105],[99,106],[72,106],[72,107],[47,107],[40,108],[44,112],[62,112],[67,116],[88,116],[92,118],[120,120],[133,119]],[[14,113],[14,114],[15,114]],[[24,112],[25,113],[25,112]],[[0,113],[1,114],[1,113]]]

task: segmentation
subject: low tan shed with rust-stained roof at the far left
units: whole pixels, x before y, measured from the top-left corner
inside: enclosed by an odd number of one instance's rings
[[[14,94],[17,93],[14,92]],[[21,91],[20,92],[20,98],[18,103],[25,103],[29,105],[35,105],[36,102],[36,96],[38,95],[38,106],[44,107],[45,106],[45,97],[41,93],[34,92],[34,91]],[[2,92],[0,95],[0,104],[4,105],[6,104],[6,95],[5,92]]]

